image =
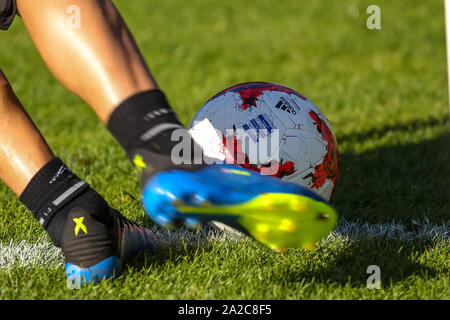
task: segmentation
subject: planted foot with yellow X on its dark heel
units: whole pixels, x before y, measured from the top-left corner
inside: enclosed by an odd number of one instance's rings
[[[68,283],[116,278],[129,257],[156,248],[156,238],[149,229],[105,204],[90,209],[76,207],[69,213],[61,241]]]

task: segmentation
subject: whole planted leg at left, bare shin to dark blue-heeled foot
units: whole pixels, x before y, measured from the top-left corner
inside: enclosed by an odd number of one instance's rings
[[[0,179],[62,248],[70,272],[77,274],[80,267],[109,259],[114,263],[103,266],[101,276],[118,276],[123,260],[136,253],[133,250],[154,249],[150,230],[121,216],[54,157],[1,70]],[[133,246],[123,245],[129,239]]]

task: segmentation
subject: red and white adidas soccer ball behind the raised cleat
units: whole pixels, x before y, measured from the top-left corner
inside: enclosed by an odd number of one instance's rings
[[[333,130],[319,108],[292,89],[265,82],[225,89],[195,115],[190,133],[211,158],[301,184],[326,200],[334,191],[339,153]],[[248,147],[275,133],[267,156]]]

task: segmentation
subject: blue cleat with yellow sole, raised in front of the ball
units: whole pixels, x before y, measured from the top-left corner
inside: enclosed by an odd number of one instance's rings
[[[167,228],[219,221],[276,251],[311,250],[338,220],[309,189],[226,164],[158,173],[144,185],[143,204]]]

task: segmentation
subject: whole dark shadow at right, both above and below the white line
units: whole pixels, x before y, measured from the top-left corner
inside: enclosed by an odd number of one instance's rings
[[[448,125],[448,120],[429,119],[385,127],[364,134],[347,136],[340,141],[377,139],[392,131],[418,130]],[[346,220],[364,222],[429,219],[442,223],[450,220],[450,132],[417,144],[379,147],[362,154],[341,155],[341,177],[333,204]],[[352,240],[352,239],[351,239]],[[330,263],[319,270],[292,272],[292,281],[320,278],[322,281],[366,286],[367,267],[381,269],[382,283],[396,283],[410,276],[433,278],[437,271],[418,262],[434,245],[395,239],[354,239],[345,250],[334,253]]]

